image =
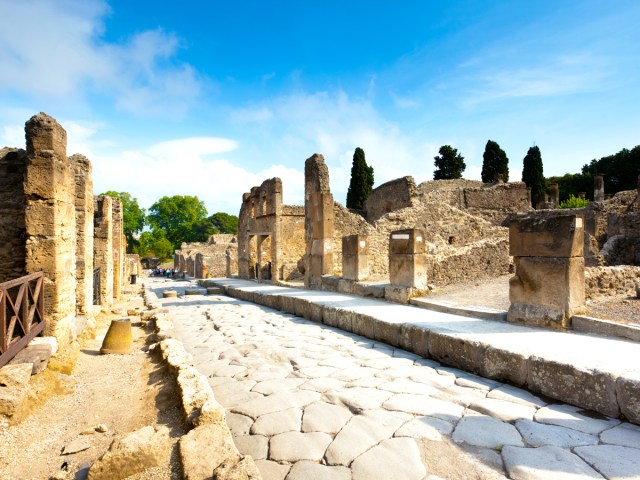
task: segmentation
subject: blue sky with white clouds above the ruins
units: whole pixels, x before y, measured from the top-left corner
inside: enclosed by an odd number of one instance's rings
[[[441,145],[479,179],[488,139],[520,180],[640,144],[640,2],[0,0],[0,146],[44,111],[96,193],[197,195],[237,214],[279,176],[301,204],[322,153],[344,203],[353,151],[376,185],[433,178]]]

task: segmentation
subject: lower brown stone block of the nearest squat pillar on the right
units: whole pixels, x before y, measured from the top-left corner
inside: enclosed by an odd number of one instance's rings
[[[516,257],[507,321],[567,328],[584,312],[584,258]]]

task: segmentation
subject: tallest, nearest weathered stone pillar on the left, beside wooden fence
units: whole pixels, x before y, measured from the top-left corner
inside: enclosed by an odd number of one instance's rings
[[[26,273],[44,271],[46,334],[64,345],[75,337],[75,175],[67,132],[40,113],[25,126]]]

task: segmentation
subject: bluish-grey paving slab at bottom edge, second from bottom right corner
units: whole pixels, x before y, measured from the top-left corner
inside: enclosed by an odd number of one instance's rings
[[[559,447],[519,448],[506,445],[502,449],[502,458],[509,478],[514,480],[602,480],[602,475],[580,457]]]

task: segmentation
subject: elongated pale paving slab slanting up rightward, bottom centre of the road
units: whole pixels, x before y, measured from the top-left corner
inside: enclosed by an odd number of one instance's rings
[[[369,410],[354,416],[327,448],[327,464],[348,467],[356,457],[381,440],[391,438],[409,418],[409,415],[385,410]]]

